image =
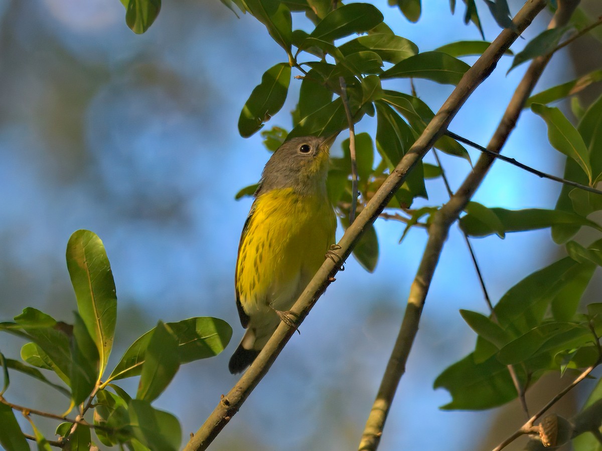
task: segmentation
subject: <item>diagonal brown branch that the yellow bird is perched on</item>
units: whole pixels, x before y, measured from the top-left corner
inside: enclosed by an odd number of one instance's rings
[[[346,230],[337,247],[341,257],[340,262],[337,264],[333,260],[326,259],[302,295],[297,299],[291,311],[299,315],[299,322],[303,321],[303,318],[311,310],[315,301],[326,290],[330,282],[334,280],[334,275],[337,274],[340,264],[349,257],[353,247],[367,228],[366,226],[372,224],[380,215],[397,189],[405,181],[409,171],[423,158],[435,141],[444,134],[448,124],[461,106],[464,105],[470,94],[489,76],[495,68],[495,64],[497,64],[497,61],[509,48],[510,44],[517,39],[520,32],[529,26],[533,18],[545,7],[546,3],[545,0],[529,0],[515,17],[517,32],[511,29],[504,29],[479,60],[474,63],[473,67],[467,70],[455,90],[445,100],[441,109],[433,117],[411,149],[408,150],[408,153],[406,153],[397,167],[380,186],[365,208],[362,209],[355,222]],[[278,326],[278,329],[276,329],[253,364],[243,374],[237,384],[234,385],[232,390],[222,397],[222,400],[220,400],[199,431],[190,439],[184,448],[185,451],[203,450],[211,444],[214,438],[217,437],[217,434],[228,424],[232,416],[237,413],[253,388],[267,373],[293,333],[294,328],[289,327],[287,324],[281,323]]]

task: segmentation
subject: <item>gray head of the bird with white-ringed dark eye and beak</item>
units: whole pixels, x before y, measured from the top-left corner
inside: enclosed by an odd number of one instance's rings
[[[265,164],[257,195],[293,188],[299,194],[326,192],[330,145],[328,138],[299,137],[285,142]]]

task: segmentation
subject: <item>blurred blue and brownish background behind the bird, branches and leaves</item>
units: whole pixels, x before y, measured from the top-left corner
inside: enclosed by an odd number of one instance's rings
[[[417,24],[384,0],[373,3],[385,22],[420,51],[480,39],[476,27],[462,21],[462,2],[452,16],[447,2],[424,0]],[[522,2],[509,3],[514,15]],[[598,2],[589,2],[594,3],[599,10]],[[484,2],[477,7],[486,38],[492,40],[499,28]],[[549,11],[540,14],[512,49],[520,51],[549,19]],[[297,26],[306,23],[304,17],[293,20],[299,20],[293,22]],[[587,37],[563,49],[536,91],[600,67],[601,55],[600,43]],[[241,138],[237,121],[264,70],[285,60],[263,25],[248,15],[238,19],[217,0],[165,1],[157,22],[143,35],[127,28],[118,0],[0,0],[0,319],[31,306],[72,322],[75,296],[65,247],[75,230],[97,233],[107,248],[119,299],[114,363],[159,319],[216,316],[234,328],[222,355],[181,367],[154,403],[178,417],[184,438],[238,379],[227,368],[243,334],[234,302],[234,265],[251,200],[235,201],[234,195],[258,180],[269,153],[259,133]],[[526,69],[520,66],[506,75],[510,63],[505,57],[498,64],[450,130],[488,142]],[[290,98],[268,127],[290,129],[299,84],[291,82]],[[409,92],[407,80],[388,86]],[[435,111],[452,91],[427,81],[417,81],[416,88]],[[584,102],[599,93],[600,87],[589,88]],[[560,106],[569,114],[565,103]],[[367,118],[357,131],[374,136],[375,130],[376,123]],[[525,112],[504,154],[562,174],[563,158],[548,149],[545,133],[541,118]],[[341,153],[338,144],[333,153]],[[476,161],[477,153],[471,155]],[[470,165],[442,158],[455,188]],[[427,189],[430,200],[420,204],[445,201],[441,180],[428,182]],[[498,162],[475,200],[490,207],[552,208],[559,190],[553,182]],[[357,446],[426,242],[424,230],[415,229],[398,245],[403,228],[399,222],[377,221],[376,271],[368,274],[355,260],[347,262],[301,334],[291,339],[211,449]],[[341,234],[339,229],[337,237]],[[546,231],[473,244],[493,301],[563,252]],[[595,292],[592,286],[587,295]],[[434,391],[433,380],[474,346],[475,336],[459,308],[486,313],[468,251],[454,228],[380,449],[488,449],[522,423],[516,403],[477,413],[438,410],[450,397]],[[0,349],[10,358],[19,358],[22,344],[0,337]],[[7,396],[12,402],[53,405],[57,412],[68,406],[34,381],[14,376],[11,382]],[[550,387],[566,383],[567,378],[544,378],[535,390],[543,397],[533,393],[530,398],[532,410],[555,393]],[[137,380],[120,385],[135,393]],[[592,387],[591,382],[583,385],[583,393]],[[566,400],[566,408],[578,407],[585,395],[576,396]],[[39,423],[53,438],[56,423]]]

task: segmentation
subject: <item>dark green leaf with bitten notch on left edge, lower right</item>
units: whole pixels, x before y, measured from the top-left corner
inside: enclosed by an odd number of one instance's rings
[[[521,369],[517,372],[524,382]],[[447,367],[435,379],[434,388],[445,388],[452,395],[452,402],[441,407],[444,410],[484,410],[517,397],[506,365],[495,357],[477,364],[473,354]]]

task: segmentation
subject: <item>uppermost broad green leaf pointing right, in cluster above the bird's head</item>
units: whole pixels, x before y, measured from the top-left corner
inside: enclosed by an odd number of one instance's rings
[[[367,3],[352,3],[330,11],[311,32],[310,36],[324,41],[366,32],[380,22],[382,13]]]

